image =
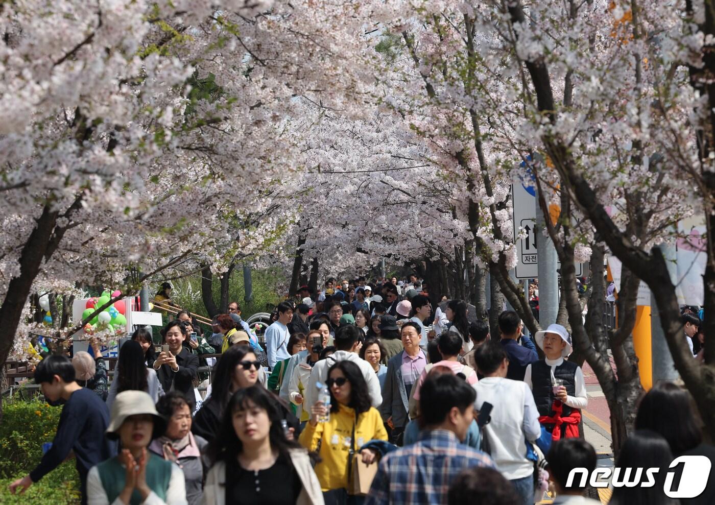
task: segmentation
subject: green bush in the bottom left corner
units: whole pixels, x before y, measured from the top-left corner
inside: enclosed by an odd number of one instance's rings
[[[44,476],[24,495],[10,494],[9,485],[34,469],[42,457],[42,443],[51,442],[59,422],[61,407],[39,400],[5,401],[0,423],[0,503],[79,503],[79,476],[74,460],[65,461]]]

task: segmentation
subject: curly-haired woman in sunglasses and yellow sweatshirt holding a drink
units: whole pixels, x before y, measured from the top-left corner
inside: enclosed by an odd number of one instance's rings
[[[320,481],[325,504],[360,504],[361,496],[347,494],[350,485],[348,461],[350,453],[357,453],[370,440],[388,439],[383,419],[370,406],[370,394],[360,368],[350,361],[338,361],[327,373],[330,391],[330,420],[319,423],[328,408],[316,402],[310,408],[310,421],[300,433],[300,443],[309,451],[317,451],[320,463],[315,473]],[[374,453],[365,449],[363,461],[373,461]],[[352,461],[350,461],[352,465]]]

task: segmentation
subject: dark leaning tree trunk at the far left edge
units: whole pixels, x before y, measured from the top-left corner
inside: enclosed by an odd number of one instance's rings
[[[45,205],[20,254],[19,275],[11,278],[7,294],[0,305],[0,366],[4,365],[15,340],[17,326],[22,317],[32,283],[39,273],[45,255],[51,255],[57,247],[53,233],[59,212]]]

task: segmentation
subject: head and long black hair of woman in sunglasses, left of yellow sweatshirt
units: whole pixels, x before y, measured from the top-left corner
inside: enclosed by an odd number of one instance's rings
[[[232,345],[221,355],[213,370],[211,396],[194,416],[191,431],[211,442],[218,433],[231,395],[258,381],[261,364],[247,345]]]

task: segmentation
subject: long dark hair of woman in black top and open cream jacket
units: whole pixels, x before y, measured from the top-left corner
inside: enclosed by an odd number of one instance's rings
[[[278,402],[263,386],[256,385],[239,389],[233,393],[228,401],[217,437],[209,443],[208,455],[212,464],[217,461],[235,461],[237,454],[243,452],[243,443],[233,428],[233,414],[236,411],[247,410],[254,405],[268,413],[271,423],[268,431],[271,448],[276,449],[285,456],[288,456],[290,449],[300,448],[298,443],[285,438],[285,433],[280,423],[283,419],[283,413]],[[290,461],[290,458],[288,458],[288,461]]]

